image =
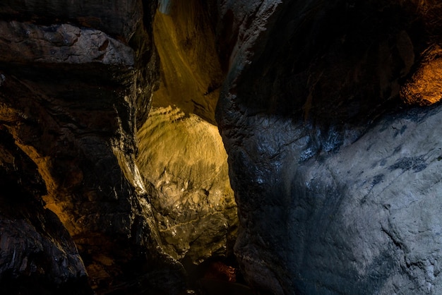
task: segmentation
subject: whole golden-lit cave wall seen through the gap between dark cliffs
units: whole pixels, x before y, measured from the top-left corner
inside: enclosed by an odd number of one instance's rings
[[[206,1],[159,2],[152,28],[160,85],[136,133],[162,248],[185,265],[231,256],[238,224],[215,126],[223,74],[211,13]]]

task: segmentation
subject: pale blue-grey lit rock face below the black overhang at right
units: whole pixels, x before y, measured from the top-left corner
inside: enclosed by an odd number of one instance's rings
[[[386,116],[305,160],[302,125],[256,118],[271,127],[244,140],[253,152],[230,153],[251,167],[232,174],[235,250],[251,282],[277,294],[438,294],[442,147],[429,126],[440,120],[440,108]],[[275,146],[276,155],[255,153]]]

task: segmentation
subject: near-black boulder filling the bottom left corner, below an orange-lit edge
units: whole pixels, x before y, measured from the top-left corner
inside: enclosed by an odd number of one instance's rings
[[[4,130],[0,138],[1,293],[92,294],[73,239],[43,208],[47,191],[37,166]]]

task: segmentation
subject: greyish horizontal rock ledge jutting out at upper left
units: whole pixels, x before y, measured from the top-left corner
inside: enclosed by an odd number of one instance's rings
[[[69,24],[32,25],[1,22],[2,61],[17,63],[66,63],[134,66],[131,47],[121,44],[104,32],[81,29]],[[25,40],[23,42],[23,40]]]

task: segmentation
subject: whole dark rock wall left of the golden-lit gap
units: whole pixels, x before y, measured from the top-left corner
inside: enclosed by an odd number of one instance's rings
[[[34,163],[23,174],[42,179],[40,191],[25,195],[36,205],[2,219],[1,287],[11,276],[28,282],[28,291],[43,277],[49,289],[42,294],[59,294],[67,283],[99,294],[186,287],[183,267],[159,248],[135,163],[137,119],[147,116],[158,78],[155,2],[145,4],[150,15],[141,1],[108,5],[0,4],[1,130]],[[20,176],[8,176],[1,191],[9,182],[31,185]],[[2,195],[2,211],[20,207],[4,203],[10,198]],[[86,272],[88,284],[78,284]]]

